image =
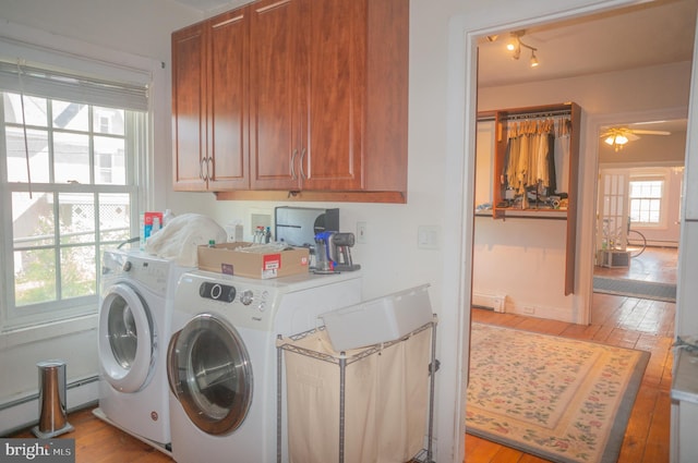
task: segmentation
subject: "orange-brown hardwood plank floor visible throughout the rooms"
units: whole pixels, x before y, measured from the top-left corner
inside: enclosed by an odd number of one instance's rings
[[[654,249],[657,251],[657,249]],[[649,281],[675,280],[675,249],[648,249],[626,269],[613,270],[616,277],[645,275]],[[635,266],[633,265],[635,264]],[[648,270],[654,268],[654,270]],[[658,272],[663,273],[658,277]],[[580,326],[554,320],[495,314],[473,309],[472,320],[515,327],[554,336],[591,340],[610,345],[641,349],[651,358],[638,392],[623,441],[618,463],[669,462],[670,388],[675,305],[606,294],[593,295],[592,324]],[[75,431],[76,463],[163,463],[171,459],[128,434],[94,417],[89,410],[69,416]],[[33,437],[27,430],[13,437]],[[466,463],[545,462],[537,456],[466,435]],[[261,462],[262,463],[262,462]]]

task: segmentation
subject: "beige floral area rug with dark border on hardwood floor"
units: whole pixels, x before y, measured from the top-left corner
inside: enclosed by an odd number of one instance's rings
[[[649,356],[472,324],[466,432],[554,462],[615,462]]]

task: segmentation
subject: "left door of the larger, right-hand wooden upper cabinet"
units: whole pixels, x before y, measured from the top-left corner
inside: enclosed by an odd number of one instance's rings
[[[300,0],[252,4],[250,171],[253,190],[298,190],[300,144]]]

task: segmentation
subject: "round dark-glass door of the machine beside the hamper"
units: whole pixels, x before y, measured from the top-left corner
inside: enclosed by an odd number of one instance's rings
[[[252,365],[232,326],[197,315],[172,336],[167,360],[170,389],[196,427],[224,435],[242,424],[252,403]]]

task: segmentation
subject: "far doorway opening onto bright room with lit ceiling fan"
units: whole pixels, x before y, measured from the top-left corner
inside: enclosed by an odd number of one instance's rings
[[[686,123],[601,129],[595,278],[676,284]],[[616,134],[624,143],[614,143]]]

